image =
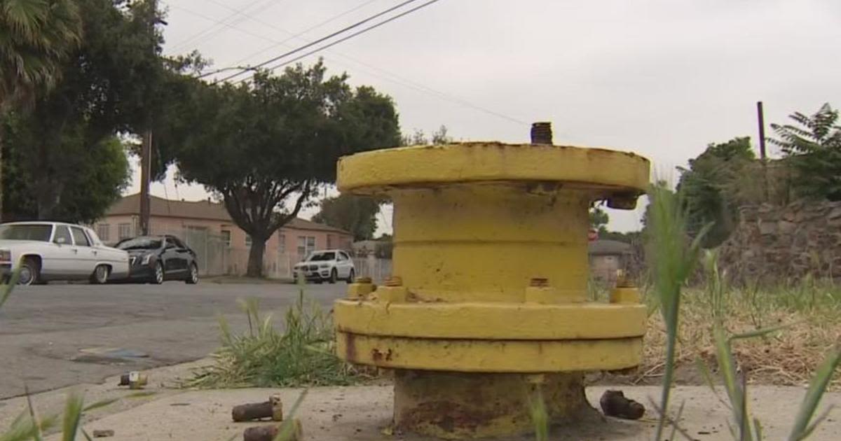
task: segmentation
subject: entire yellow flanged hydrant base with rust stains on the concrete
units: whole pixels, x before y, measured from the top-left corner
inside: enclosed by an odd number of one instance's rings
[[[526,433],[589,414],[582,372],[642,357],[646,308],[586,297],[588,209],[632,208],[648,160],[550,144],[463,143],[342,158],[342,192],[394,202],[394,275],[337,301],[337,353],[395,370],[394,424],[440,438]]]

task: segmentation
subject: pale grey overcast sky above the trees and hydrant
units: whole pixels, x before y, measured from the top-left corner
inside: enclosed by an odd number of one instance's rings
[[[398,3],[161,0],[165,53],[253,65]],[[526,142],[548,120],[555,144],[631,150],[676,179],[708,143],[755,140],[756,101],[767,123],[841,106],[841,1],[440,0],[302,62],[318,56],[394,97],[405,132]],[[152,192],[206,197],[171,179]],[[638,218],[611,211],[611,228]]]

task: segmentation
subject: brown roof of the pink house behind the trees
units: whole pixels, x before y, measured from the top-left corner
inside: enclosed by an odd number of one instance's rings
[[[204,201],[172,201],[162,197],[152,196],[151,198],[151,216],[158,216],[164,218],[188,218],[188,219],[204,219],[204,220],[218,220],[221,222],[233,223],[230,214],[225,209],[225,206],[219,202],[211,202],[209,199]],[[140,215],[140,194],[121,197],[119,201],[114,202],[106,216],[114,216],[119,214]],[[349,232],[323,223],[316,223],[302,218],[293,218],[291,221],[283,225],[283,228],[295,229],[309,229],[318,231],[335,231],[336,233],[350,234]]]

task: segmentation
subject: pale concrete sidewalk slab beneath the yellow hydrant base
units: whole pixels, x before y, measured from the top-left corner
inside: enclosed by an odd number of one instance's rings
[[[598,407],[601,394],[609,388],[621,389],[625,395],[643,402],[648,409],[642,420],[627,422],[606,418],[603,423],[582,428],[555,428],[552,439],[652,439],[656,416],[649,398],[659,399],[656,386],[592,386],[587,395]],[[801,387],[750,386],[750,408],[763,424],[765,438],[787,438],[805,389]],[[288,412],[300,389],[238,389],[221,391],[184,391],[162,396],[125,412],[119,412],[87,423],[88,432],[112,429],[114,439],[120,441],[226,440],[240,439],[245,428],[267,423],[233,423],[230,410],[244,402],[260,402],[272,393],[283,396],[284,411]],[[310,389],[297,417],[304,426],[304,439],[339,440],[417,440],[410,435],[389,435],[394,396],[391,386],[319,387]],[[729,412],[722,402],[704,386],[679,386],[674,390],[674,409],[685,403],[680,426],[693,439],[701,441],[731,440],[727,430]],[[825,396],[822,407],[841,404],[841,394]],[[837,410],[836,410],[837,411]],[[675,438],[681,438],[677,436]],[[49,438],[59,439],[58,436]],[[519,438],[533,439],[533,438]],[[812,435],[812,440],[841,439],[838,412],[831,412],[827,420]]]

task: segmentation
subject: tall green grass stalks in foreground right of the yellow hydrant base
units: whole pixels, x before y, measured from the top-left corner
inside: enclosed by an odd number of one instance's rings
[[[649,237],[652,239],[648,249],[649,263],[652,265],[653,271],[652,289],[655,300],[659,302],[666,330],[663,392],[659,403],[661,412],[655,438],[656,441],[659,441],[662,439],[664,429],[669,422],[678,420],[677,418],[672,420],[669,417],[669,391],[673,385],[674,355],[680,332],[680,300],[685,282],[698,260],[698,241],[703,234],[699,234],[694,240],[690,241],[686,231],[684,205],[679,195],[664,187],[655,186],[648,196],[652,204],[649,212]],[[781,323],[770,328],[757,327],[745,333],[731,333],[726,326],[727,315],[732,312],[728,308],[731,304],[728,299],[731,291],[727,286],[727,278],[719,270],[717,255],[714,253],[705,255],[704,263],[706,267],[706,297],[704,300],[708,305],[707,318],[712,322],[711,330],[718,373],[727,391],[727,399],[732,410],[731,433],[734,439],[742,441],[759,440],[762,439],[761,424],[748,412],[748,380],[746,375],[737,369],[738,360],[734,355],[733,344],[742,339],[758,339],[770,333],[784,332],[785,327],[789,325]],[[819,297],[815,292],[814,286],[810,286],[808,291],[795,296],[796,299],[800,300],[799,302],[791,303],[791,300],[785,300],[787,302],[786,307],[793,307],[796,310],[804,307],[816,307]],[[809,301],[802,302],[805,298],[808,298]],[[817,405],[823,393],[827,390],[839,361],[841,361],[841,351],[838,347],[835,347],[829,351],[819,369],[813,375],[807,394],[801,403],[800,411],[796,414],[789,437],[790,440],[806,438],[822,421],[822,417],[815,417],[815,412],[817,412]],[[702,369],[706,366],[699,365]],[[706,372],[706,376],[712,377],[709,372]],[[676,424],[678,423],[671,424],[674,425],[674,428],[677,428]]]

